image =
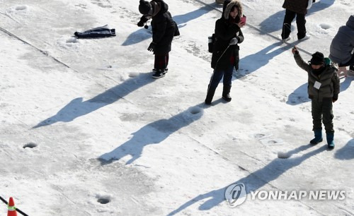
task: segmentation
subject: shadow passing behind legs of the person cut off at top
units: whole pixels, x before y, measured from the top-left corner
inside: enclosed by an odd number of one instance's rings
[[[325,8],[329,8],[332,4],[334,4],[335,0],[321,0],[312,5],[312,7],[307,11],[306,16],[311,16],[312,13],[316,13],[318,11],[322,11]],[[264,32],[276,32],[282,29],[282,22],[284,21],[285,9],[282,11],[278,11],[277,13],[269,16],[265,20],[260,23],[260,29]],[[295,22],[296,18],[294,19]]]

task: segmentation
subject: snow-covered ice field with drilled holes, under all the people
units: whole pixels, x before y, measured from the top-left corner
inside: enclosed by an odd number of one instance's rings
[[[138,0],[0,0],[0,196],[31,216],[354,215],[354,78],[341,78],[333,105],[336,148],[309,145],[307,73],[291,53],[297,44],[305,61],[328,56],[353,0],[317,0],[311,38],[290,44],[280,42],[282,0],[243,0],[232,102],[219,85],[210,107],[207,37],[222,7],[203,2],[166,0],[181,36],[154,80]],[[73,37],[105,24],[116,37]],[[224,192],[239,183],[247,198],[231,208]],[[346,198],[251,197],[320,190]]]

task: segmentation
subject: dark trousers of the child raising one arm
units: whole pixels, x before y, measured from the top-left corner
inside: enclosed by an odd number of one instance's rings
[[[333,130],[333,103],[330,98],[324,99],[322,102],[312,100],[312,123],[313,130],[322,129],[321,121],[324,123],[326,133],[334,132]]]

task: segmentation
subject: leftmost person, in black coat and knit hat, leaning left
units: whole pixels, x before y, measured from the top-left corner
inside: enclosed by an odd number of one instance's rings
[[[177,35],[177,25],[168,10],[169,6],[163,0],[139,1],[139,12],[143,16],[137,25],[142,27],[147,20],[152,18],[152,42],[147,48],[155,55],[152,78],[161,78],[166,75],[173,36]]]

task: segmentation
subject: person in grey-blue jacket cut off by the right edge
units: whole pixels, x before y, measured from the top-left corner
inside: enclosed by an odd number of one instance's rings
[[[338,64],[339,71],[344,71],[346,76],[346,66],[354,76],[354,16],[350,16],[346,25],[339,28],[334,36],[329,48],[329,59]]]

